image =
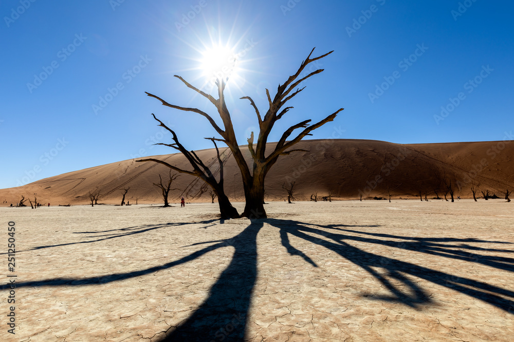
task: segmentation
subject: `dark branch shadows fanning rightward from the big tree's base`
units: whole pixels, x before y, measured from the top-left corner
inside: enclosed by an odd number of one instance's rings
[[[425,252],[429,254],[435,254],[438,256],[444,256],[448,258],[461,259],[470,261],[473,263],[479,263],[486,266],[503,269],[506,271],[514,272],[514,259],[499,256],[485,256],[476,253],[470,254],[469,257],[464,257],[462,251],[456,250],[456,248],[463,248],[465,245],[451,245],[444,244],[438,245],[435,242],[480,242],[480,243],[502,243],[496,241],[476,240],[476,239],[458,239],[458,238],[415,238],[415,237],[402,237],[395,236],[396,238],[402,238],[406,240],[413,240],[411,243],[396,243],[389,240],[362,238],[355,235],[346,235],[339,232],[332,232],[331,230],[338,231],[351,231],[353,233],[369,234],[369,235],[386,235],[387,234],[372,234],[365,233],[355,230],[344,230],[338,229],[336,226],[316,226],[305,224],[294,220],[281,220],[281,219],[268,219],[267,223],[280,229],[281,236],[287,234],[297,236],[310,243],[322,246],[328,250],[332,250],[344,257],[348,261],[351,261],[357,266],[360,266],[377,280],[382,283],[384,288],[388,289],[391,293],[390,296],[376,296],[374,299],[381,299],[387,301],[400,301],[401,303],[408,305],[413,308],[417,308],[420,304],[428,304],[431,302],[430,297],[427,293],[419,287],[416,283],[411,281],[406,275],[414,276],[417,278],[425,279],[431,283],[451,288],[458,292],[467,294],[476,299],[485,301],[495,307],[498,307],[504,311],[514,313],[514,292],[506,289],[502,289],[497,286],[489,285],[481,281],[457,277],[442,271],[432,270],[427,267],[408,263],[406,261],[397,260],[394,258],[376,255],[370,252],[363,251],[357,247],[347,243],[347,241],[355,242],[366,242],[370,244],[380,244],[390,247],[396,247],[400,249],[406,249],[417,252]],[[313,228],[316,226],[318,228]],[[320,228],[328,229],[322,230]],[[384,237],[386,237],[384,236]],[[390,235],[388,237],[392,237]],[[435,241],[430,242],[429,241]],[[282,238],[284,247],[288,250],[291,255],[300,255],[304,260],[313,264],[308,256],[304,255],[298,249],[292,247],[288,243],[288,239]],[[437,250],[439,252],[434,252]],[[502,251],[509,252],[511,250],[497,250],[497,249],[484,249],[485,251]],[[441,252],[441,251],[444,251]],[[465,252],[464,252],[465,253]],[[313,265],[315,266],[315,264]],[[381,270],[382,272],[378,272]],[[401,285],[395,285],[395,283],[401,283]]]

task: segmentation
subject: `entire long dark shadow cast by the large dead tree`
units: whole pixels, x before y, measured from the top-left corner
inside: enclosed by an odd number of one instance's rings
[[[212,221],[205,222],[206,226]],[[469,246],[467,243],[494,243],[509,244],[497,241],[485,241],[477,239],[459,238],[419,238],[377,234],[363,232],[357,227],[329,225],[320,226],[287,219],[260,219],[251,220],[250,225],[240,234],[230,239],[201,242],[193,245],[211,244],[190,255],[170,263],[163,264],[140,271],[117,273],[107,276],[89,278],[53,278],[39,281],[27,281],[17,284],[17,287],[42,287],[42,286],[80,286],[84,284],[105,284],[133,278],[162,269],[193,261],[201,255],[218,248],[232,246],[234,255],[229,266],[222,272],[216,283],[212,286],[208,298],[199,308],[177,327],[170,327],[163,332],[163,341],[242,341],[244,340],[248,310],[252,297],[253,287],[257,274],[257,235],[264,224],[269,224],[280,230],[281,243],[291,255],[302,257],[313,267],[318,267],[316,260],[311,259],[304,252],[291,245],[289,236],[296,236],[305,241],[334,251],[339,256],[360,266],[373,275],[388,289],[389,294],[373,299],[396,301],[410,307],[429,305],[430,296],[423,288],[418,286],[412,277],[425,279],[431,283],[451,288],[471,297],[485,301],[486,303],[514,314],[514,292],[489,285],[481,281],[457,277],[442,271],[433,270],[406,261],[377,255],[359,249],[351,242],[369,243],[389,246],[403,250],[423,252],[431,255],[466,260],[484,266],[514,272],[514,259],[503,256],[481,255],[481,251],[494,251],[496,253],[512,253],[508,249],[489,249]],[[212,225],[211,225],[212,226]],[[149,227],[134,229],[133,227],[121,229],[121,234],[114,233],[111,237],[123,237],[130,233],[144,233]],[[157,228],[153,226],[152,228]],[[354,228],[354,229],[350,229]],[[109,231],[96,233],[111,233]],[[357,235],[349,235],[353,233]],[[103,239],[103,238],[102,238]],[[102,240],[98,239],[98,240]],[[392,240],[396,239],[396,240]],[[90,243],[95,242],[90,241]],[[59,246],[59,245],[56,245]],[[49,248],[52,246],[45,246]],[[470,252],[463,252],[469,250]],[[215,255],[212,255],[215,257]],[[408,275],[408,276],[407,276]],[[397,285],[401,283],[401,286]],[[371,299],[371,298],[370,298]]]

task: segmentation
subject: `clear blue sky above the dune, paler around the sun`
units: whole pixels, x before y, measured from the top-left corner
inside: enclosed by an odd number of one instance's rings
[[[151,113],[189,149],[211,148],[207,120],[144,92],[215,115],[173,77],[202,87],[200,59],[213,41],[240,53],[227,102],[241,145],[257,123],[238,98],[265,112],[264,88],[273,95],[313,47],[334,53],[270,140],[340,107],[310,138],[502,140],[514,130],[512,13],[511,1],[484,0],[0,1],[0,188],[173,153],[150,145],[170,142]]]

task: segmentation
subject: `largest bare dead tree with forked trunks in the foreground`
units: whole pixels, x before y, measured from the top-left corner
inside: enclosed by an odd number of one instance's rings
[[[307,136],[311,135],[310,132],[323,126],[327,122],[331,122],[334,120],[336,115],[342,111],[343,109],[340,108],[331,115],[328,115],[324,119],[322,119],[320,122],[310,125],[309,123],[311,120],[304,120],[296,125],[293,125],[289,127],[281,136],[278,143],[274,147],[272,151],[266,151],[266,144],[268,142],[268,136],[275,125],[275,123],[281,119],[292,107],[284,107],[284,105],[293,97],[295,97],[298,93],[300,93],[304,88],[297,88],[300,86],[302,82],[304,82],[307,78],[316,75],[323,71],[323,69],[318,69],[313,72],[310,72],[306,76],[303,76],[303,71],[305,68],[312,62],[318,61],[318,59],[321,59],[325,57],[326,55],[332,53],[328,52],[326,54],[323,54],[318,57],[310,58],[311,54],[314,52],[314,49],[309,53],[307,58],[302,62],[299,69],[296,71],[295,74],[289,76],[289,78],[286,80],[286,82],[282,85],[279,85],[277,88],[277,93],[274,95],[274,97],[271,97],[269,90],[266,89],[266,95],[268,99],[268,109],[266,111],[266,114],[264,117],[261,116],[261,113],[258,109],[258,107],[255,105],[253,99],[249,96],[244,96],[242,99],[247,99],[250,102],[250,105],[253,107],[253,110],[255,111],[256,117],[258,119],[259,123],[259,134],[257,137],[257,142],[254,146],[254,135],[253,132],[251,132],[250,137],[248,138],[248,150],[250,152],[251,158],[252,158],[252,166],[247,164],[243,151],[240,149],[240,144],[238,144],[234,127],[232,124],[232,119],[230,117],[229,110],[227,108],[227,105],[225,103],[225,96],[224,96],[224,90],[225,86],[227,85],[228,78],[218,78],[216,81],[217,86],[217,96],[218,98],[213,97],[210,94],[205,93],[204,91],[201,91],[200,89],[192,86],[189,84],[185,79],[182,77],[175,75],[180,81],[182,81],[188,88],[196,91],[201,96],[205,97],[209,102],[211,102],[214,107],[216,108],[217,114],[221,118],[223,122],[223,126],[220,127],[215,122],[215,120],[206,112],[201,111],[197,108],[188,108],[188,107],[180,107],[176,105],[171,105],[165,100],[161,99],[160,97],[146,93],[148,96],[154,97],[162,103],[164,106],[168,106],[170,108],[187,111],[187,112],[194,112],[199,115],[204,116],[207,118],[211,126],[214,128],[214,130],[221,136],[221,138],[210,138],[212,142],[219,141],[223,142],[228,146],[230,151],[232,152],[235,162],[241,172],[241,176],[243,178],[243,188],[245,192],[245,209],[241,216],[243,217],[251,217],[251,218],[266,218],[266,211],[264,210],[264,179],[268,173],[268,171],[271,169],[271,167],[277,162],[277,159],[281,155],[287,155],[291,152],[295,151],[304,151],[300,149],[293,149],[290,148],[296,145],[300,140]],[[295,90],[295,88],[297,88]],[[155,115],[154,115],[155,118]],[[156,118],[157,119],[157,118]],[[159,121],[160,122],[160,121]],[[188,158],[191,166],[193,167],[193,171],[188,170],[182,170],[178,169],[172,165],[169,165],[173,170],[178,172],[187,173],[196,177],[199,177],[203,179],[207,184],[209,184],[214,191],[216,191],[218,195],[218,203],[220,206],[220,211],[222,213],[222,217],[238,217],[237,211],[232,207],[230,204],[228,197],[225,195],[223,191],[223,176],[220,175],[219,181],[216,181],[216,179],[212,176],[211,171],[208,167],[206,167],[201,160],[194,154],[194,152],[189,152],[185,148],[183,148],[179,143],[178,139],[176,138],[175,132],[173,132],[171,129],[169,129],[166,125],[164,125],[162,122],[160,122],[160,126],[168,129],[170,132],[173,133],[175,144],[167,145],[174,147],[175,149],[179,150],[182,154]],[[292,139],[289,138],[291,133],[297,129],[303,130],[298,133],[298,135]],[[166,145],[166,144],[160,144],[160,145]],[[216,147],[217,150],[217,147]],[[219,158],[219,155],[218,155]],[[147,161],[152,159],[142,159],[137,160],[138,162],[141,161]],[[160,160],[153,159],[153,162],[161,163],[164,165],[167,165],[167,163],[164,163]]]

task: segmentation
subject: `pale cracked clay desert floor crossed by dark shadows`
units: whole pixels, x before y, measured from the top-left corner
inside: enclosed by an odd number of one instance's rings
[[[512,340],[512,203],[265,208],[0,208],[2,283],[17,276],[16,334],[4,287],[0,340]]]

